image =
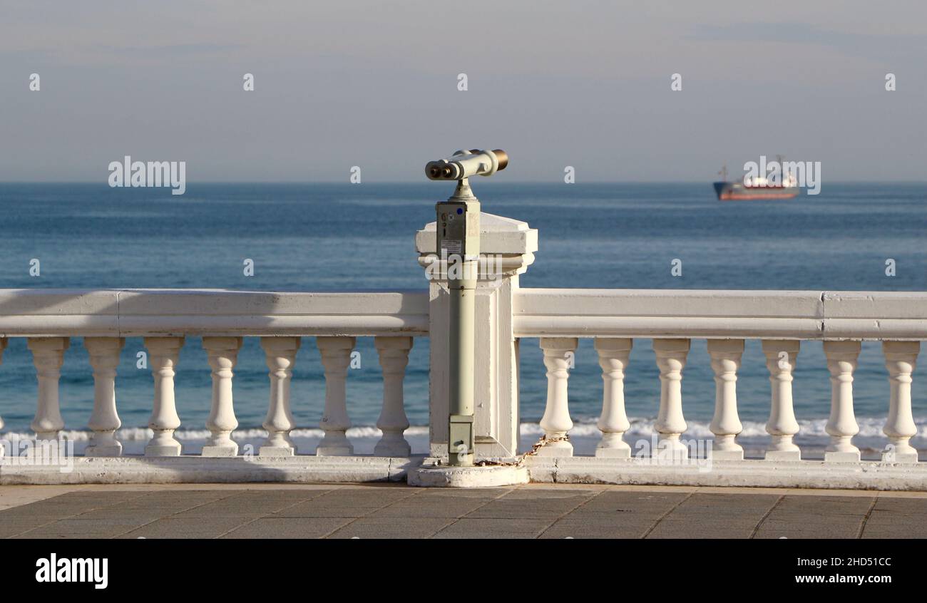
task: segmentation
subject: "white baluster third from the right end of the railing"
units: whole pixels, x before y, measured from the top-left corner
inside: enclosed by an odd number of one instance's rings
[[[770,436],[767,460],[800,460],[801,448],[792,438],[798,433],[798,421],[792,406],[792,371],[798,357],[799,341],[767,339],[763,341],[763,354],[769,371],[772,403],[766,431]]]

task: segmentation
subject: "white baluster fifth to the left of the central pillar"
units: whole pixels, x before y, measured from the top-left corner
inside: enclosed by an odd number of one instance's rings
[[[155,433],[145,446],[146,457],[179,457],[183,446],[173,436],[180,427],[174,402],[174,367],[184,346],[183,337],[146,337],[148,364],[155,379],[155,402],[148,427]]]

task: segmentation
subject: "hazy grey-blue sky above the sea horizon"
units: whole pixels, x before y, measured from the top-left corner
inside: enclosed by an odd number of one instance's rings
[[[365,183],[422,181],[460,147],[505,149],[512,181],[565,166],[707,181],[777,153],[820,161],[825,183],[927,180],[923,0],[0,0],[0,15],[0,181],[106,182],[124,155],[185,160],[188,182],[345,182],[355,165]]]

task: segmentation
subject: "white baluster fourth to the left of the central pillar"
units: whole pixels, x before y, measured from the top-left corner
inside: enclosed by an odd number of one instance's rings
[[[206,420],[211,434],[203,446],[204,457],[238,455],[238,444],[232,439],[232,432],[238,427],[232,401],[232,378],[241,342],[241,337],[203,337],[203,348],[212,369],[212,407]]]

